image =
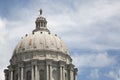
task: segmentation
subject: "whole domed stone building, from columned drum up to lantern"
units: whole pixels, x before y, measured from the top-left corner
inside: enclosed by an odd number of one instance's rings
[[[35,24],[35,29],[16,45],[4,70],[5,80],[77,80],[78,69],[68,49],[49,31],[42,10]]]

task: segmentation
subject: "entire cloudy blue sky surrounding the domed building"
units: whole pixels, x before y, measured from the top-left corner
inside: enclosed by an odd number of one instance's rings
[[[120,80],[120,0],[0,0],[0,80],[40,8],[68,46],[78,80]]]

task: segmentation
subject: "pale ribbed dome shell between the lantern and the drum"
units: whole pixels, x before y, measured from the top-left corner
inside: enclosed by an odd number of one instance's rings
[[[37,31],[28,34],[17,44],[14,54],[27,51],[57,51],[69,54],[64,42],[56,35],[46,31]]]

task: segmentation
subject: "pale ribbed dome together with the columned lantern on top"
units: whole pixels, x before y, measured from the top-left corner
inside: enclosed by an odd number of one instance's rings
[[[53,51],[69,55],[64,42],[56,34],[51,33],[47,29],[47,21],[41,14],[35,21],[36,28],[31,34],[26,34],[20,40],[14,50],[13,56],[30,51]]]

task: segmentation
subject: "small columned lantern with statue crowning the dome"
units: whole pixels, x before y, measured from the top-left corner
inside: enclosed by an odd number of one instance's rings
[[[33,30],[33,32],[35,31],[48,31],[47,29],[47,20],[45,17],[42,16],[42,9],[39,10],[40,12],[40,16],[37,17],[35,24],[36,24],[36,29]]]

